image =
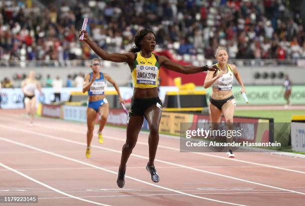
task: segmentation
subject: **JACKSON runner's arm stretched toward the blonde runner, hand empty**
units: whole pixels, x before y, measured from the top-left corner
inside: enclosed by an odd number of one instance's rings
[[[179,72],[182,74],[194,74],[198,72],[205,72],[205,71],[217,71],[216,68],[212,68],[209,66],[203,66],[203,67],[196,67],[192,65],[187,65],[183,66],[178,63],[170,61],[167,57],[165,56],[159,56],[159,63],[160,66],[163,66],[169,70]]]

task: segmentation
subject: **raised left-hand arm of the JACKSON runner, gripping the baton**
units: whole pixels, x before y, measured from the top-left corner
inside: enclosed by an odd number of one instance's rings
[[[103,60],[112,61],[112,62],[127,62],[128,64],[132,64],[133,59],[135,57],[134,53],[127,52],[127,53],[124,53],[124,54],[119,54],[119,53],[109,54],[89,38],[87,31],[80,30],[78,35],[81,36],[82,34],[84,34],[84,41]]]

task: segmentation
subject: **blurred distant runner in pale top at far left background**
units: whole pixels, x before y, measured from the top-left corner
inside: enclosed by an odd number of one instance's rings
[[[36,97],[35,97],[35,90],[38,90],[40,95],[41,86],[40,83],[35,80],[35,73],[34,71],[30,71],[28,77],[21,83],[21,90],[24,94],[24,106],[26,113],[30,116],[30,123],[29,126],[33,126],[34,115],[35,115],[35,104],[36,104]]]

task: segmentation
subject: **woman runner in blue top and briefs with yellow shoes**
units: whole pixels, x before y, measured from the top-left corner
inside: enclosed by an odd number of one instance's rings
[[[103,143],[102,131],[107,121],[109,113],[109,104],[105,98],[105,87],[106,80],[110,82],[116,89],[120,102],[123,102],[123,99],[120,94],[119,87],[115,81],[111,79],[108,74],[100,72],[101,60],[93,59],[90,65],[92,72],[85,76],[83,93],[88,91],[88,103],[87,103],[87,150],[86,157],[91,156],[91,141],[93,137],[93,130],[96,120],[97,113],[100,114],[100,127],[98,130],[99,143]]]

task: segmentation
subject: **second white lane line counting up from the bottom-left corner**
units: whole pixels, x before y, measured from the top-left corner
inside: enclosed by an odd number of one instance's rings
[[[10,143],[13,143],[13,144],[16,144],[16,145],[19,145],[19,146],[27,147],[27,148],[30,148],[30,149],[33,149],[33,150],[37,150],[37,151],[40,151],[40,152],[43,152],[43,153],[46,153],[46,154],[50,154],[50,155],[53,155],[53,156],[56,156],[56,157],[61,157],[61,158],[66,159],[66,160],[77,162],[77,163],[80,163],[80,164],[83,164],[83,165],[94,167],[96,169],[100,169],[100,170],[103,170],[105,172],[109,172],[109,173],[117,175],[117,172],[114,172],[112,170],[107,170],[105,168],[102,168],[102,167],[99,167],[99,166],[96,166],[96,165],[92,165],[92,164],[89,164],[89,163],[86,163],[86,162],[83,162],[83,161],[80,161],[80,160],[72,159],[70,157],[59,155],[59,154],[56,154],[56,153],[53,153],[53,152],[49,152],[49,151],[46,151],[46,150],[43,150],[43,149],[39,149],[37,147],[33,147],[33,146],[30,146],[30,145],[27,145],[27,144],[23,144],[23,143],[20,143],[20,142],[12,141],[12,140],[9,140],[9,139],[3,138],[3,137],[0,137],[0,140],[6,141],[6,142],[10,142]],[[235,203],[230,203],[230,202],[218,201],[218,200],[214,200],[214,199],[210,199],[210,198],[203,198],[203,197],[191,195],[191,194],[188,194],[188,193],[183,193],[183,192],[180,192],[180,191],[177,191],[177,190],[173,190],[173,189],[170,189],[170,188],[165,188],[165,187],[162,187],[162,186],[154,185],[152,183],[145,182],[145,181],[142,181],[140,179],[133,178],[133,177],[130,177],[130,176],[127,176],[127,175],[125,177],[129,178],[129,179],[132,179],[132,180],[135,180],[137,182],[141,182],[141,183],[153,186],[153,187],[157,187],[157,188],[161,188],[161,189],[164,189],[164,190],[172,191],[174,193],[179,193],[179,194],[190,196],[190,197],[193,197],[193,198],[213,201],[213,202],[217,202],[217,203],[223,203],[223,204],[227,204],[227,205],[245,206],[245,205],[240,205],[240,204],[235,204]]]

